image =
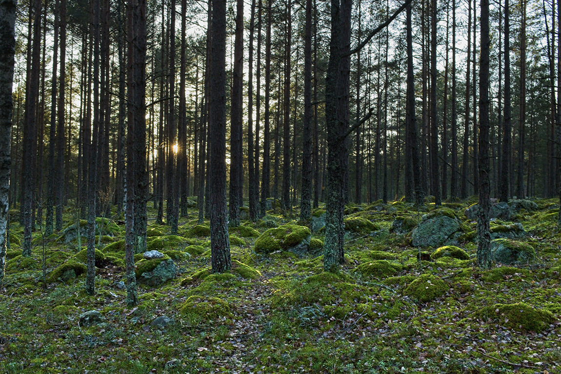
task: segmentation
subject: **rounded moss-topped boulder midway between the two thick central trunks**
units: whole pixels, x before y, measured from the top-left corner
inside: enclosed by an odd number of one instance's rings
[[[305,226],[283,225],[266,230],[255,241],[255,252],[290,251],[298,256],[309,251],[310,229]]]

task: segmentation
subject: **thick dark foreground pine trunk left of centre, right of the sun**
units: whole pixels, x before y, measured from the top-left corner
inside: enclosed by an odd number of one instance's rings
[[[210,249],[213,273],[232,267],[226,215],[226,0],[212,1],[210,27]]]

